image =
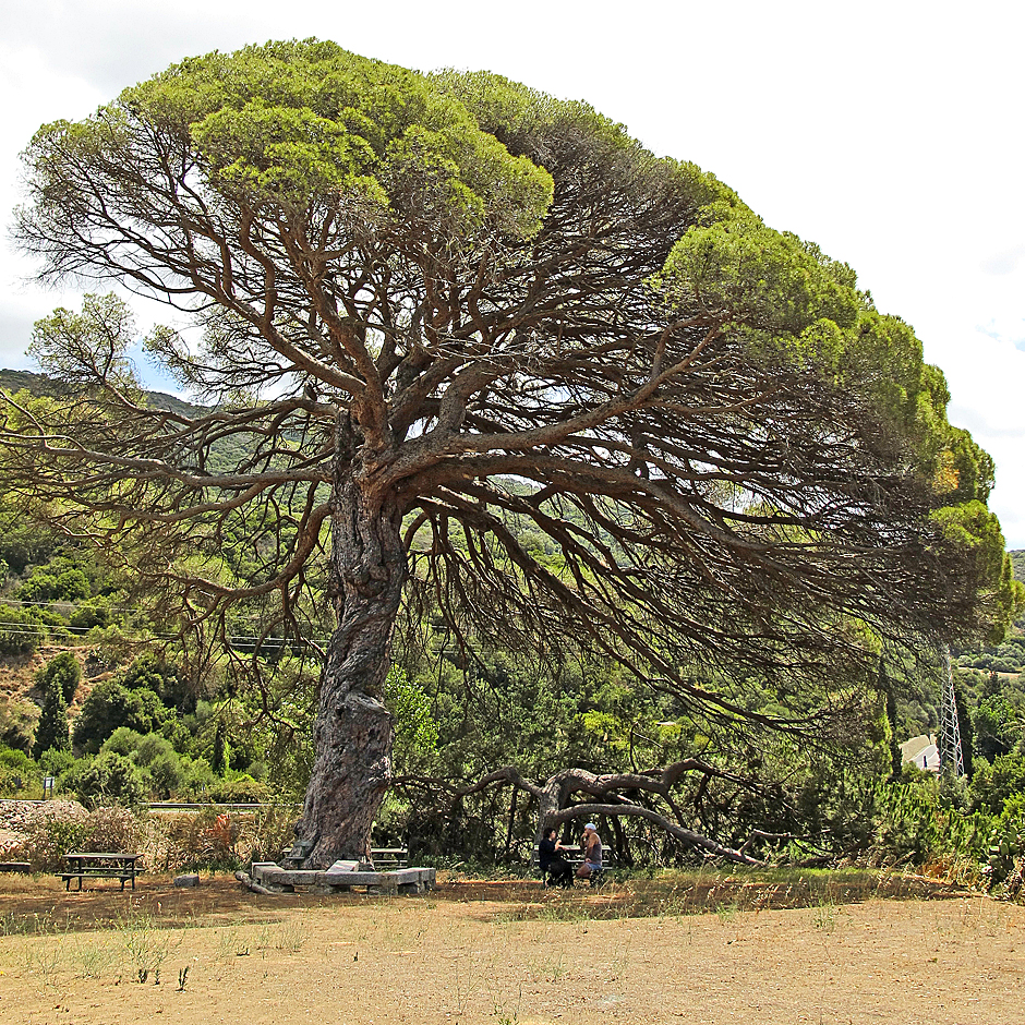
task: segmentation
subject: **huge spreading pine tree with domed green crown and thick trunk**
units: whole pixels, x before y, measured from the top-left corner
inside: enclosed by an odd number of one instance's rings
[[[134,545],[193,622],[260,607],[257,652],[313,632],[326,583],[310,865],[361,855],[388,786],[403,593],[456,642],[572,637],[702,728],[798,735],[871,685],[880,636],[999,630],[1014,603],[992,465],[912,330],[584,104],[276,43],[172,65],[25,159],[43,277],[193,316],[202,345],[148,348],[208,406],[148,407],[128,310],[89,297],[37,325],[81,390],[8,407],[10,477]],[[792,704],[752,711],[745,680],[782,675]]]

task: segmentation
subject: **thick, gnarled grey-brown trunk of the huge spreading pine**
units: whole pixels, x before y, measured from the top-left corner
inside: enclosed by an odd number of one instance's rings
[[[335,480],[331,583],[338,629],[321,678],[315,760],[298,841],[303,866],[369,859],[370,831],[391,781],[391,715],[383,703],[391,629],[406,576],[401,511],[361,489],[352,463]]]

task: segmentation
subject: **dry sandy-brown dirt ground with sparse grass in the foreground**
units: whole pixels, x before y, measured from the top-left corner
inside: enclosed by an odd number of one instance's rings
[[[0,877],[0,1023],[1025,1022],[1021,906],[699,889],[257,896],[204,878],[69,894]]]

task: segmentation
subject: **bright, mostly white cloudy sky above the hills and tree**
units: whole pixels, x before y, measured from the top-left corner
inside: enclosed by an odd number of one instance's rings
[[[951,421],[997,461],[1009,546],[1025,547],[1023,29],[1010,0],[4,0],[0,215],[9,225],[40,124],[214,49],[316,36],[584,99],[849,263],[913,325],[946,374]],[[33,323],[77,305],[33,273],[4,232],[0,366],[32,369]],[[141,331],[159,313],[140,308]]]

